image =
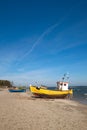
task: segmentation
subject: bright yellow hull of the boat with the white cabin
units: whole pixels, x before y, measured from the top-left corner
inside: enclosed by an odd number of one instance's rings
[[[35,86],[30,86],[30,91],[36,97],[48,97],[48,98],[65,98],[65,97],[71,97],[73,94],[72,89],[59,91],[59,90],[38,88]]]

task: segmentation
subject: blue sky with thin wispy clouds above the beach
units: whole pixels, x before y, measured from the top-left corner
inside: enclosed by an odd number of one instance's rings
[[[86,0],[1,0],[0,79],[87,85]]]

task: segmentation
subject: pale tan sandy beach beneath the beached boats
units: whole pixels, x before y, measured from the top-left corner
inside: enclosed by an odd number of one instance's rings
[[[87,105],[0,91],[0,130],[87,130]]]

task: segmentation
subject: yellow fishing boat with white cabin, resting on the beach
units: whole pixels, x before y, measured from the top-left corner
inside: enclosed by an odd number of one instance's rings
[[[30,85],[30,91],[37,97],[49,97],[49,98],[66,98],[71,97],[73,94],[72,89],[68,89],[68,82],[57,82],[55,90],[50,90],[43,86]]]

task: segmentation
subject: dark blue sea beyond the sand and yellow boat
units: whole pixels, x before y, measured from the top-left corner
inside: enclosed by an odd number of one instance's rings
[[[75,86],[73,89],[73,96],[71,100],[75,100],[81,104],[87,105],[87,86]],[[55,87],[48,87],[48,89],[55,89]]]

